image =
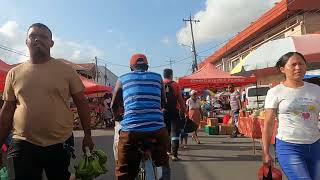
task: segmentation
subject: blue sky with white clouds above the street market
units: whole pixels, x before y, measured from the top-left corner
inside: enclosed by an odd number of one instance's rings
[[[166,65],[170,58],[176,61],[186,58],[173,65],[175,76],[184,76],[191,73],[192,54],[190,48],[179,45],[191,44],[190,28],[185,26],[183,18],[192,13],[200,20],[194,27],[197,51],[210,49],[199,53],[203,59],[271,8],[274,1],[2,0],[0,45],[27,54],[26,30],[32,23],[42,22],[54,34],[54,57],[86,63],[98,56],[103,59],[99,64],[107,64],[116,75],[129,70],[125,66],[135,52],[145,53],[150,70],[158,73],[170,67]],[[239,13],[230,17],[230,10]],[[26,57],[0,50],[0,59],[16,63]]]

